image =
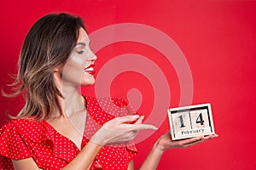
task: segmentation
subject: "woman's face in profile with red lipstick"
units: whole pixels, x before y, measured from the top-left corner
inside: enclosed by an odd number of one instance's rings
[[[79,29],[79,40],[73,53],[62,67],[62,84],[88,86],[95,83],[94,64],[96,55],[90,50],[90,39],[83,28]]]

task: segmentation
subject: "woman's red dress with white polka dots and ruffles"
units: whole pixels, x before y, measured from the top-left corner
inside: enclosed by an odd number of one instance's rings
[[[120,99],[86,97],[87,119],[81,148],[90,137],[116,116],[131,115],[131,109]],[[111,114],[110,114],[111,113]],[[0,155],[4,170],[14,169],[11,160],[32,157],[39,168],[61,169],[79,154],[79,148],[71,139],[58,133],[48,122],[26,119],[12,120],[0,129]],[[96,155],[90,169],[125,169],[137,155],[132,142],[105,145]]]

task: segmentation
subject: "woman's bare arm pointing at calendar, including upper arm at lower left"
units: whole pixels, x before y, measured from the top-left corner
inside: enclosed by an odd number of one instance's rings
[[[156,129],[152,125],[142,124],[143,116],[123,116],[117,117],[106,122],[90,139],[88,144],[79,152],[73,161],[70,161],[63,170],[80,170],[90,169],[96,154],[102,149],[104,144],[124,143],[134,139],[138,130]],[[127,122],[134,122],[128,124]],[[131,162],[132,163],[132,162]],[[133,167],[129,163],[129,168]],[[32,158],[27,158],[19,161],[14,161],[15,170],[38,170],[38,165]],[[130,170],[130,169],[129,169]],[[132,170],[132,168],[131,168]]]

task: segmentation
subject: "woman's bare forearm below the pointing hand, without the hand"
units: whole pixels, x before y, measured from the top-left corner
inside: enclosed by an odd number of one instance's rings
[[[75,170],[75,169],[90,169],[92,162],[94,161],[96,154],[102,149],[102,145],[88,142],[84,148],[80,151],[73,161],[69,162],[63,170]]]

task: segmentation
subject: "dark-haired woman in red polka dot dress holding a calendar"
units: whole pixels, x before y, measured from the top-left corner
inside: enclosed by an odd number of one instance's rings
[[[95,62],[79,17],[48,14],[32,26],[13,83],[19,88],[9,95],[25,93],[26,105],[0,131],[3,169],[133,169],[137,149],[131,140],[139,130],[157,128],[130,115],[123,100],[98,101],[79,93],[80,86],[94,84]],[[216,136],[173,142],[166,133],[141,169],[157,167],[166,149]]]

